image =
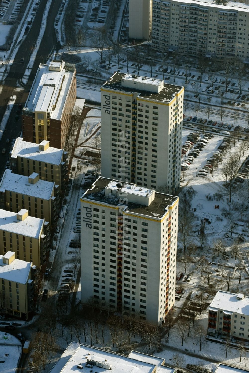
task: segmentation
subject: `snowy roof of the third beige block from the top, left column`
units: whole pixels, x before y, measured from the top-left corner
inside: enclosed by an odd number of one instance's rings
[[[19,213],[21,211],[19,211]],[[16,233],[32,238],[39,238],[43,227],[43,219],[27,216],[25,220],[20,221],[17,220],[17,215],[19,213],[0,209],[1,231]]]

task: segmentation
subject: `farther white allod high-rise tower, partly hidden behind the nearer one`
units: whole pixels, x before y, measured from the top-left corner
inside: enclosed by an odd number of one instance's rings
[[[177,190],[183,91],[159,79],[122,73],[101,87],[101,176]]]

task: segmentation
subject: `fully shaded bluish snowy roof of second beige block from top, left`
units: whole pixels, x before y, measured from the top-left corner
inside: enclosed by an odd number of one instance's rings
[[[0,183],[0,192],[11,191],[31,197],[49,200],[53,194],[55,183],[38,180],[35,184],[29,184],[28,176],[17,175],[12,170],[5,170]]]

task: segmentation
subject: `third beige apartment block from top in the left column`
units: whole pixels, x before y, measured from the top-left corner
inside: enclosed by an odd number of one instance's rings
[[[28,210],[18,213],[0,209],[0,254],[14,251],[16,258],[32,262],[41,268],[49,251],[49,223],[28,216]]]

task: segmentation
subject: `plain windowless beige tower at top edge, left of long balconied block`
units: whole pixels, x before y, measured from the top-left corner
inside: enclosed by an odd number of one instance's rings
[[[150,38],[152,0],[132,0],[129,3],[129,38]]]

